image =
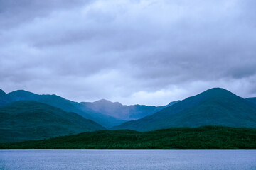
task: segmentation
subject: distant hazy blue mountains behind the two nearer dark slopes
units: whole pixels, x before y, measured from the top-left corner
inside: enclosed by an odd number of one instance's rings
[[[166,106],[159,107],[143,105],[123,106],[121,103],[112,103],[104,99],[95,102],[78,103],[54,94],[38,95],[24,90],[12,91],[6,94],[0,89],[0,107],[14,101],[38,101],[40,103],[46,103],[66,112],[78,113],[82,117],[93,120],[105,128],[119,125],[127,120],[143,118],[146,115],[151,115],[160,111],[162,108],[176,103],[171,102]]]

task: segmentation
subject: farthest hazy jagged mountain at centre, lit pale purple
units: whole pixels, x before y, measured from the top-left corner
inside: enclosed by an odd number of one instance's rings
[[[122,105],[119,102],[113,103],[105,99],[95,102],[82,102],[82,104],[87,108],[90,108],[96,112],[100,112],[104,115],[110,115],[122,120],[137,120],[139,118],[144,118],[145,116],[152,115],[157,111],[161,111],[161,109],[171,106],[177,102],[178,101],[174,101],[169,103],[169,105],[159,107],[145,105],[126,106]]]

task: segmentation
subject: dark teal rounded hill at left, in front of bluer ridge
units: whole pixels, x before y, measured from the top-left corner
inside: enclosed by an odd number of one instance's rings
[[[101,125],[36,101],[17,101],[0,108],[0,142],[38,140],[105,130]]]

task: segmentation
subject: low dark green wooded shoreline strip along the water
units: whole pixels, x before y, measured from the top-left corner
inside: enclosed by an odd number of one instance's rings
[[[256,129],[208,126],[151,132],[105,130],[1,144],[0,149],[256,149]]]

